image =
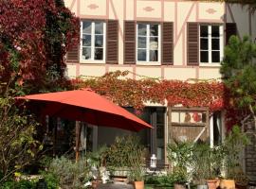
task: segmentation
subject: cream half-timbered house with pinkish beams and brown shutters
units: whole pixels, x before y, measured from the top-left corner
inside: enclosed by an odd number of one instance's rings
[[[128,70],[134,79],[219,79],[229,37],[256,38],[256,16],[247,6],[182,0],[64,2],[81,18],[81,43],[66,55],[68,77]],[[210,113],[208,107],[167,110],[147,104],[141,117],[155,127],[139,133],[144,145],[162,163],[167,163],[166,144],[175,133],[182,140],[210,139],[211,146],[225,136],[224,112]],[[90,132],[96,147],[125,131],[92,127]]]

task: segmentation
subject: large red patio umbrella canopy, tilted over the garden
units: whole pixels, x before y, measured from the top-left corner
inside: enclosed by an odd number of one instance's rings
[[[29,100],[34,108],[42,107],[43,114],[87,122],[89,124],[139,131],[151,129],[146,122],[90,89],[17,97]]]

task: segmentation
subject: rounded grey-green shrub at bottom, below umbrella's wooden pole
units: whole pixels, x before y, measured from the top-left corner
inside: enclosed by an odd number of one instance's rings
[[[54,159],[46,171],[46,180],[47,182],[51,181],[53,186],[56,184],[56,176],[60,186],[64,189],[82,188],[89,178],[89,170],[85,160],[81,159],[78,163],[75,163],[61,157]]]

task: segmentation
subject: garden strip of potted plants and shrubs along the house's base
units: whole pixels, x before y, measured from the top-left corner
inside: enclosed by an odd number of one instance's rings
[[[13,173],[14,178],[1,180],[0,188],[98,188],[113,182],[137,189],[246,188],[248,180],[239,158],[247,144],[239,127],[233,127],[221,146],[174,140],[167,148],[172,166],[156,171],[146,164],[145,147],[137,136],[122,136],[111,146],[83,154],[78,162],[72,159],[74,154],[60,158],[44,155],[37,162],[37,175],[30,175],[32,166],[24,166]]]

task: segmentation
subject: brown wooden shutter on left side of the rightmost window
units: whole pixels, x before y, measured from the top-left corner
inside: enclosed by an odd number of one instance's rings
[[[188,65],[199,65],[199,26],[198,23],[188,23]]]

